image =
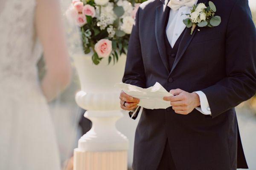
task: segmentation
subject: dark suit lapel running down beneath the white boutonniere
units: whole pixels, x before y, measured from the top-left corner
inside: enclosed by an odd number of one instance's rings
[[[202,3],[205,0],[198,0],[198,3]],[[172,71],[175,69],[175,67],[177,66],[177,63],[180,61],[180,59],[182,58],[183,54],[186,52],[186,49],[188,48],[190,42],[192,41],[193,37],[195,36],[196,32],[197,32],[197,28],[195,29],[195,31],[193,32],[192,35],[190,35],[191,32],[191,28],[185,28],[185,32],[183,34],[182,39],[180,40],[180,45],[177,51],[177,55],[175,58],[175,61],[172,65],[172,69],[170,74],[172,73]]]

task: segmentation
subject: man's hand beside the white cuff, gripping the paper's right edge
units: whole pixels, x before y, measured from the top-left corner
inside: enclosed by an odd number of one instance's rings
[[[175,113],[187,115],[195,107],[200,106],[200,99],[197,93],[185,92],[181,89],[173,89],[170,93],[174,96],[164,97],[163,100],[170,101]]]

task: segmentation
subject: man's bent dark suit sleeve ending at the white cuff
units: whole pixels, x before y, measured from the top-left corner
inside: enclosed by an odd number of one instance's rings
[[[237,0],[226,32],[226,77],[203,89],[212,118],[248,100],[256,92],[256,29],[248,0]]]

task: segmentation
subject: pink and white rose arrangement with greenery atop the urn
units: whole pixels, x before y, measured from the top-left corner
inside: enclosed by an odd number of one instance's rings
[[[120,55],[127,53],[140,3],[142,1],[72,1],[66,11],[67,19],[81,28],[84,53],[93,52],[94,64],[99,64],[105,58],[108,58],[108,63],[116,63]]]

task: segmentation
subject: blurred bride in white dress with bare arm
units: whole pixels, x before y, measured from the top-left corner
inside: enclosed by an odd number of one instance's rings
[[[0,170],[60,170],[47,107],[71,77],[60,13],[58,0],[0,0]]]

